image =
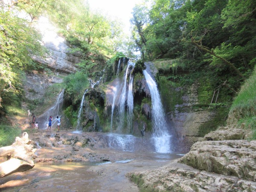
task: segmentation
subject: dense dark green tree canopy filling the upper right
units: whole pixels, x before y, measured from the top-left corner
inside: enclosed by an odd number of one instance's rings
[[[253,0],[154,0],[150,6],[146,4],[145,1],[134,7],[131,22],[134,41],[145,61],[165,59],[157,63],[163,73],[169,73],[170,69],[175,73],[180,67],[196,73],[208,66],[204,76],[209,75],[211,86],[218,86],[219,83],[212,80],[215,78],[227,80],[231,88],[239,87],[241,77],[234,73],[234,68],[246,77],[250,75],[256,64]],[[192,39],[216,56],[190,44]],[[220,57],[234,68],[228,67]],[[176,77],[178,80],[185,76]],[[172,75],[169,79],[173,78]]]

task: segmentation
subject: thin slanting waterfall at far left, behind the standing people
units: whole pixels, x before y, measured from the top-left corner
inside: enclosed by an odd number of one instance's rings
[[[61,90],[61,92],[58,94],[55,104],[52,105],[52,107],[49,108],[47,111],[45,111],[41,116],[39,116],[38,119],[35,119],[35,121],[38,122],[38,127],[40,129],[48,128],[49,116],[53,117],[52,127],[55,126],[57,122],[56,116],[61,117],[59,109],[62,107],[62,104],[63,104],[63,95],[64,95],[64,89]]]

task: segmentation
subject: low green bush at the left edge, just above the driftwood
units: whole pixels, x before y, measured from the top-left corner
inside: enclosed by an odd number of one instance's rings
[[[15,137],[20,136],[21,129],[10,125],[0,124],[0,147],[12,145]]]

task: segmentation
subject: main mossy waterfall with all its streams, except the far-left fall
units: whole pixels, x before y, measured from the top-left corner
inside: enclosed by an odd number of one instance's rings
[[[172,137],[166,125],[160,93],[154,76],[151,74],[150,67],[146,67],[145,65],[143,70],[141,70],[139,81],[145,83],[143,86],[140,86],[140,89],[147,91],[141,93],[140,97],[134,97],[135,94],[138,95],[138,93],[135,93],[136,89],[138,89],[138,83],[134,81],[134,78],[138,76],[136,75],[138,70],[135,63],[129,61],[128,58],[120,58],[119,61],[116,62],[116,66],[113,67],[112,73],[113,81],[111,81],[111,85],[108,86],[106,93],[107,104],[105,103],[105,111],[109,111],[106,117],[108,120],[104,120],[110,123],[108,125],[102,125],[109,127],[109,147],[123,151],[140,151],[143,149],[144,151],[171,153]],[[94,88],[95,84],[99,85],[100,80],[97,81],[97,83],[90,81],[92,85],[91,89]],[[83,129],[81,126],[83,119],[82,110],[87,91],[88,90],[85,90],[81,99],[76,131]],[[138,111],[140,111],[140,113],[143,110],[145,111],[145,109],[138,110],[138,103],[141,104],[140,106],[142,106],[143,103],[141,100],[143,100],[143,102],[147,101],[146,106],[149,107],[147,115],[138,114]],[[136,110],[134,110],[134,107]],[[144,106],[142,108],[144,108]],[[142,117],[147,124],[144,123],[143,125],[140,123],[143,122],[141,120]],[[102,122],[102,119],[100,121]],[[135,128],[137,130],[135,130]],[[141,134],[138,134],[138,132],[141,132]]]

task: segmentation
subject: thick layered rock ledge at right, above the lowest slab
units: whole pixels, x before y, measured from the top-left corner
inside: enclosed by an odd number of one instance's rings
[[[202,141],[179,162],[199,170],[256,181],[256,141]]]

